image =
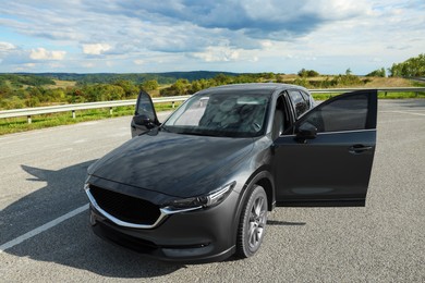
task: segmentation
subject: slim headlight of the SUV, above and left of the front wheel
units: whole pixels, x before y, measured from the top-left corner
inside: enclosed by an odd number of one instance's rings
[[[199,196],[199,197],[191,197],[191,198],[183,198],[183,199],[177,199],[166,205],[166,208],[168,210],[185,210],[189,208],[196,209],[196,208],[206,208],[206,207],[212,207],[217,206],[218,204],[222,202],[232,192],[234,185],[236,182],[232,182],[230,184],[227,184],[226,186],[216,189],[211,192],[209,195],[206,196]],[[192,210],[191,209],[191,210]]]

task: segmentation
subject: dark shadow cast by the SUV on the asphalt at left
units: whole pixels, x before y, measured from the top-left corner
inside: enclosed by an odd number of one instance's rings
[[[86,205],[83,185],[90,163],[57,171],[22,165],[31,174],[28,182],[47,182],[47,185],[0,211],[0,246]],[[111,278],[161,276],[185,267],[153,260],[98,238],[89,226],[88,210],[3,253]]]

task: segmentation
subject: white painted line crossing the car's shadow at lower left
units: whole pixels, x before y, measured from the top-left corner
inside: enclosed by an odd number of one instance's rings
[[[12,241],[9,241],[8,243],[4,243],[3,245],[0,246],[0,254],[3,253],[4,250],[7,250],[8,248],[14,247],[14,246],[21,244],[22,242],[24,242],[28,238],[32,238],[32,237],[34,237],[34,236],[36,236],[45,231],[58,225],[59,223],[61,223],[70,218],[75,217],[76,214],[80,214],[81,212],[83,212],[87,209],[88,209],[88,204],[86,204],[77,209],[74,209],[74,210],[68,212],[66,214],[61,216],[61,217],[59,217],[59,218],[39,226],[39,227],[36,227],[36,229],[29,231],[28,233],[25,233],[25,234],[16,237]]]

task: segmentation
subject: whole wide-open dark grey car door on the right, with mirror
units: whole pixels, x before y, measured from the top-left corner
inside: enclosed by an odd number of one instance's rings
[[[275,140],[278,206],[365,206],[376,146],[377,91],[317,106]]]

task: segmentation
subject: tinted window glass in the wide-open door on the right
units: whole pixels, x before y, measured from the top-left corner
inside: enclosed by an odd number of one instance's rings
[[[354,95],[331,103],[318,106],[302,124],[309,123],[317,132],[365,130],[367,127],[368,96]]]

